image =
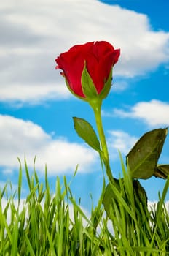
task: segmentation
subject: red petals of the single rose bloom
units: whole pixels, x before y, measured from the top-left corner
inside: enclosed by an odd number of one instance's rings
[[[93,80],[97,93],[101,94],[109,78],[111,68],[118,61],[119,54],[120,50],[114,50],[114,47],[106,41],[74,45],[66,53],[61,53],[55,59],[58,64],[56,69],[63,70],[61,75],[66,78],[69,89],[77,97],[85,99],[86,95],[82,87],[84,66],[86,65],[87,72]]]

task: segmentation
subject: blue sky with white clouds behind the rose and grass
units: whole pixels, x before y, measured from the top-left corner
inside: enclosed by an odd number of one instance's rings
[[[103,126],[111,168],[119,177],[118,150],[125,156],[151,129],[169,125],[169,2],[166,0],[7,0],[0,5],[0,187],[17,188],[19,162],[40,181],[47,173],[71,180],[71,190],[89,208],[97,203],[103,173],[98,155],[74,131],[73,116],[95,129],[93,111],[72,96],[55,58],[71,46],[106,40],[121,49],[114,83],[103,102]],[[169,139],[159,163],[169,163]],[[149,200],[165,181],[141,181]],[[27,195],[23,176],[23,198]],[[169,195],[166,197],[169,200]]]

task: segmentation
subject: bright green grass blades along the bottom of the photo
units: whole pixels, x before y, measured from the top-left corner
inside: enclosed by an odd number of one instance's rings
[[[124,165],[122,170],[124,177],[118,186],[110,185],[109,217],[102,204],[104,180],[98,206],[92,206],[87,217],[65,177],[63,184],[57,177],[55,192],[50,192],[47,170],[43,185],[36,170],[30,176],[26,162],[29,193],[23,203],[20,165],[17,191],[9,193],[10,184],[0,190],[0,255],[169,255],[169,215],[165,207],[169,179],[157,207],[149,210],[145,198],[135,196]]]

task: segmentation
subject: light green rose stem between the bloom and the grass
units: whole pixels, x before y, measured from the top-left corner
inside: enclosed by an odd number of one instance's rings
[[[102,104],[101,99],[93,100],[92,102],[90,102],[90,106],[93,108],[93,111],[95,113],[95,121],[96,121],[98,135],[101,142],[101,151],[102,151],[101,158],[103,159],[103,163],[105,165],[106,174],[109,178],[109,181],[112,182],[114,178],[111,173],[111,167],[109,162],[109,151],[107,148],[106,138],[103,131],[103,124],[101,119],[101,104]]]

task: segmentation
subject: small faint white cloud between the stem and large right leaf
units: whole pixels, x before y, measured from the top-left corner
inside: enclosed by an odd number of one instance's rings
[[[118,151],[121,154],[127,154],[137,140],[138,138],[122,130],[109,131],[108,146],[111,157],[117,157],[119,155]]]

